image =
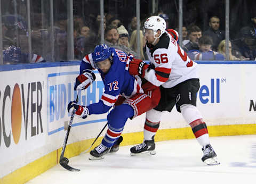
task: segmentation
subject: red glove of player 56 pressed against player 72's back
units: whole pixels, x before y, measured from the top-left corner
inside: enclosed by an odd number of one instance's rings
[[[141,77],[144,77],[148,66],[149,64],[142,60],[133,59],[129,64],[129,73],[133,76],[139,74]]]

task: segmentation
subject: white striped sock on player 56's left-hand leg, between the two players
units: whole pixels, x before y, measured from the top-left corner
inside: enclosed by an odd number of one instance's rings
[[[144,140],[152,140],[160,125],[162,112],[154,109],[146,113],[146,121],[144,124]]]

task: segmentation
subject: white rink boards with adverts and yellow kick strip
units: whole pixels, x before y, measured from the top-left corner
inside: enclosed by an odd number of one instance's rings
[[[0,183],[28,181],[58,163],[69,120],[67,104],[76,97],[79,63],[1,66]],[[198,63],[197,106],[210,136],[255,134],[256,62]],[[95,74],[95,82],[79,96],[82,105],[98,102],[103,93],[103,82]],[[106,124],[106,116],[75,118],[65,155],[87,149]],[[144,121],[145,114],[126,122],[122,145],[141,142]],[[156,141],[186,138],[194,135],[181,114],[175,107],[165,112]]]

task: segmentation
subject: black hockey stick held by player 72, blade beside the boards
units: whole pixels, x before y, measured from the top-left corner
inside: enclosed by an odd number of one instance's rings
[[[81,90],[78,90],[78,93],[77,93],[77,96],[76,96],[76,103],[78,102],[78,96],[79,94],[81,93]],[[64,143],[63,143],[63,146],[62,146],[62,151],[61,151],[61,155],[60,155],[60,165],[69,170],[69,171],[80,171],[79,169],[75,169],[75,168],[72,168],[71,166],[68,165],[68,158],[64,157],[64,152],[65,152],[65,149],[66,149],[66,145],[67,145],[67,141],[68,141],[68,136],[69,136],[69,131],[70,131],[70,128],[71,128],[71,125],[73,123],[73,119],[74,119],[74,115],[75,115],[75,109],[73,110],[73,112],[71,113],[71,117],[70,117],[70,120],[69,120],[69,123],[68,123],[68,130],[67,130],[67,134],[66,134],[66,137],[64,139]]]

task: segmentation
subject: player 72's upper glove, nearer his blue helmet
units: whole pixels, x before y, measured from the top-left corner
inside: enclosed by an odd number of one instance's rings
[[[91,70],[84,70],[81,75],[76,78],[74,90],[86,89],[95,80],[95,74]]]

